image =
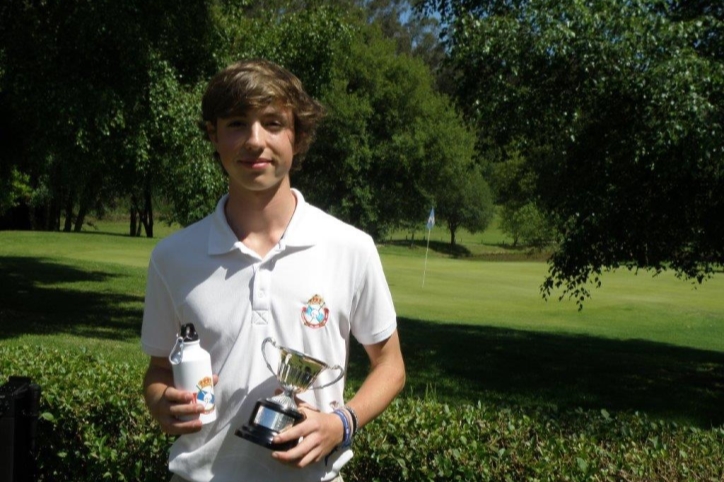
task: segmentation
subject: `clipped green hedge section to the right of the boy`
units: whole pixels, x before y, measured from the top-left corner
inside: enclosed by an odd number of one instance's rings
[[[724,429],[638,413],[401,398],[355,444],[351,481],[724,480]]]

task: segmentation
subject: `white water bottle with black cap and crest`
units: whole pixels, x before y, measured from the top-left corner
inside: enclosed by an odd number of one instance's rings
[[[179,390],[194,394],[194,403],[201,403],[204,412],[199,415],[202,424],[216,420],[214,379],[211,371],[211,355],[201,348],[199,334],[193,323],[181,326],[181,333],[168,356],[173,369],[173,384]],[[193,420],[194,416],[180,417]]]

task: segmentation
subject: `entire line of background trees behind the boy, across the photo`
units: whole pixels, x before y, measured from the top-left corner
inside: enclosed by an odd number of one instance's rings
[[[328,107],[294,182],[381,239],[431,206],[553,246],[543,293],[602,270],[724,260],[724,6],[714,0],[11,0],[0,6],[0,227],[80,230],[224,189],[198,132],[245,57]]]

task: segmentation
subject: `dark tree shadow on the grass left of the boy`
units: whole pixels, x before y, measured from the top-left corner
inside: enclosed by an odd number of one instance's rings
[[[62,333],[137,337],[143,296],[124,293],[125,276],[46,259],[0,258],[0,339]],[[143,286],[139,291],[143,292]]]

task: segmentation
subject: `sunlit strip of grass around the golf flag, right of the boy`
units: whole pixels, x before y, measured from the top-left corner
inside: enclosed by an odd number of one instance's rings
[[[410,257],[385,255],[383,264],[401,316],[724,351],[721,277],[694,287],[673,273],[606,273],[602,287],[592,290],[578,311],[573,301],[542,299],[544,263],[432,258],[424,287],[423,257],[413,262]]]

